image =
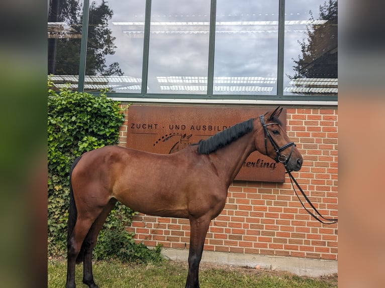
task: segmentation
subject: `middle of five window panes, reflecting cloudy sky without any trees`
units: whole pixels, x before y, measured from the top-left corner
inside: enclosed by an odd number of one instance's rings
[[[206,94],[210,1],[152,0],[147,93]]]

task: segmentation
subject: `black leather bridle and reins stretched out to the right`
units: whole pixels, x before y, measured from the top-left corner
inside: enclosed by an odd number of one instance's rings
[[[298,182],[296,181],[296,179],[294,178],[294,176],[292,175],[292,169],[289,169],[287,167],[287,163],[288,161],[290,160],[290,157],[292,156],[292,153],[293,153],[293,149],[294,147],[296,147],[295,143],[294,142],[288,142],[287,144],[283,145],[281,148],[278,148],[278,145],[276,145],[274,139],[271,137],[269,131],[267,130],[266,126],[268,125],[271,125],[271,124],[278,124],[278,123],[269,123],[269,124],[265,124],[265,121],[264,121],[264,118],[263,118],[263,115],[260,115],[259,116],[259,119],[261,121],[261,124],[262,124],[262,127],[263,127],[263,131],[265,133],[265,150],[266,150],[266,155],[267,155],[267,137],[268,139],[270,140],[271,142],[271,145],[273,146],[275,152],[276,152],[276,156],[274,158],[275,162],[278,163],[282,163],[283,166],[285,167],[286,169],[286,172],[288,174],[288,176],[290,177],[290,182],[292,183],[292,187],[293,187],[293,190],[294,192],[296,193],[296,196],[298,198],[298,200],[300,200],[300,203],[302,205],[302,207],[304,207],[304,209],[314,218],[316,219],[317,221],[321,222],[322,224],[334,224],[334,223],[337,223],[338,222],[338,218],[325,218],[324,216],[321,215],[320,212],[318,212],[318,210],[316,209],[316,207],[314,207],[314,205],[312,204],[312,202],[310,202],[309,198],[306,196],[306,194],[304,193],[304,191],[302,190],[302,188],[300,187],[300,185],[298,184]],[[267,136],[267,137],[266,137]],[[285,150],[286,148],[288,147],[292,147],[292,150],[290,151],[290,154],[288,157],[286,157],[284,154],[281,154],[281,151]],[[297,190],[296,188],[294,187],[294,184],[293,182],[296,184],[297,188],[301,191],[302,195],[305,197],[306,201],[309,203],[309,205],[314,209],[314,211],[316,211],[316,213],[320,216],[320,218],[326,220],[326,221],[329,221],[329,222],[324,222],[323,220],[321,220],[319,217],[317,217],[316,215],[314,215],[311,211],[309,211],[309,209],[307,209],[304,205],[304,203],[301,201],[301,198],[298,196],[298,193],[297,193]]]

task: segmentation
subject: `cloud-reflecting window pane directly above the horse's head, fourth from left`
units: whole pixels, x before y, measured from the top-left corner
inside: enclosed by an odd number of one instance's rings
[[[218,0],[214,94],[275,95],[278,1]]]

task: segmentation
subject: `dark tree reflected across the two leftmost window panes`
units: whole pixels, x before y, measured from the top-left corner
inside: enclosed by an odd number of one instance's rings
[[[48,39],[48,74],[78,75],[80,63],[80,38],[82,5],[79,0],[52,0],[49,22],[65,22],[76,37]],[[106,65],[106,56],[115,54],[115,37],[108,27],[114,12],[105,1],[89,5],[86,75],[123,75],[119,63]]]

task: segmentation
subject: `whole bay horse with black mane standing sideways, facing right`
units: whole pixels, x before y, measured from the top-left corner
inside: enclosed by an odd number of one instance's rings
[[[173,154],[106,146],[82,154],[70,169],[66,288],[75,287],[75,264],[83,283],[98,288],[92,250],[117,201],[161,217],[189,219],[185,288],[199,288],[199,265],[210,222],[223,210],[228,188],[253,151],[299,171],[303,157],[281,128],[277,107],[231,126]]]

